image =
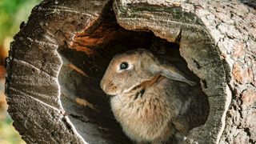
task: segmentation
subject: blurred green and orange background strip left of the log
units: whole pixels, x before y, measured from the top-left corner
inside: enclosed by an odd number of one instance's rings
[[[10,42],[18,33],[21,22],[26,22],[34,6],[41,0],[0,0],[0,144],[25,143],[12,126],[7,113],[4,95],[5,58],[8,56]]]

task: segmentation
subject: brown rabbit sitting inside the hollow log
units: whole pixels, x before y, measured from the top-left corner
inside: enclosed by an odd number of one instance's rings
[[[191,99],[176,87],[187,84],[196,83],[144,49],[116,55],[101,81],[123,131],[135,142],[150,143],[179,143],[187,134],[184,114]]]

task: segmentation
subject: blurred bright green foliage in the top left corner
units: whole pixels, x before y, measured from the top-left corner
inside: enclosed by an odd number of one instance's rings
[[[22,21],[40,0],[0,0],[0,46],[3,39],[13,37]]]

